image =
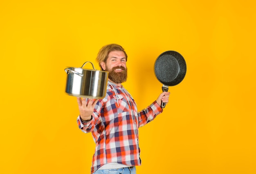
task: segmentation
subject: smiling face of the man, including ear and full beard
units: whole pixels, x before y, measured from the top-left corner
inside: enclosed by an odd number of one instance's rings
[[[107,62],[102,62],[101,67],[109,71],[108,78],[117,84],[127,80],[126,57],[123,51],[111,51]]]

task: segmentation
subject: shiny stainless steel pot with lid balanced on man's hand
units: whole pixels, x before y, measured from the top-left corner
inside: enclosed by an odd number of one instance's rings
[[[83,66],[88,62],[85,62]],[[92,64],[92,62],[90,63]],[[66,93],[82,98],[104,98],[108,84],[108,71],[96,70],[93,64],[93,69],[83,69],[83,66],[65,68],[67,73]]]

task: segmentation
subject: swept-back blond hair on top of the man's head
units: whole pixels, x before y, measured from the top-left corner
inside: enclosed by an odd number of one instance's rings
[[[97,55],[97,62],[99,62],[99,67],[101,67],[101,62],[106,62],[107,59],[108,59],[108,54],[111,52],[111,51],[123,51],[124,52],[124,55],[125,55],[125,58],[126,58],[126,61],[127,61],[127,54],[126,52],[124,51],[124,48],[121,47],[121,45],[118,45],[118,44],[109,44],[109,45],[105,45],[103,46],[100,50],[99,50],[99,53]],[[101,70],[102,67],[101,67]]]

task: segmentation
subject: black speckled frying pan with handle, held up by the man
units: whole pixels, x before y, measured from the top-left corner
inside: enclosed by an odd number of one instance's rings
[[[176,51],[165,51],[155,60],[155,76],[163,84],[162,91],[168,91],[169,86],[175,86],[186,75],[186,62],[182,55]],[[164,108],[166,103],[162,103]]]

